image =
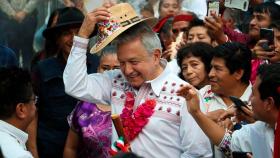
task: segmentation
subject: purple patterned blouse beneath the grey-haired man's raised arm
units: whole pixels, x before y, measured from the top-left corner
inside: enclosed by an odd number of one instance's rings
[[[93,103],[80,102],[68,116],[68,122],[71,129],[80,137],[78,157],[110,157],[111,112],[101,111]]]

